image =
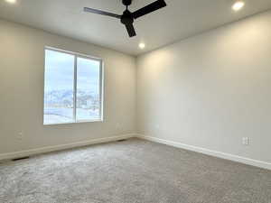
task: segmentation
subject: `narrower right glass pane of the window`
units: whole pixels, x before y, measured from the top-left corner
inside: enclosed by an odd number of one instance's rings
[[[100,119],[100,62],[77,59],[77,120]]]

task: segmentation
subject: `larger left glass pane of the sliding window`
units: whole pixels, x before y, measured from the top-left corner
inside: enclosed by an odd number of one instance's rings
[[[59,51],[45,51],[43,122],[73,122],[74,56]]]

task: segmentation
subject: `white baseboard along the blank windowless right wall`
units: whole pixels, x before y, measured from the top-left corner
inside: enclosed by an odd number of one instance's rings
[[[253,160],[253,159],[249,159],[246,157],[241,157],[241,156],[237,156],[237,155],[225,153],[225,152],[212,151],[212,150],[208,150],[208,149],[197,147],[197,146],[192,146],[192,145],[185,144],[185,143],[177,143],[177,142],[173,142],[173,141],[169,141],[169,140],[160,139],[157,137],[146,136],[143,134],[137,134],[136,137],[141,138],[141,139],[145,139],[148,141],[152,141],[155,143],[164,143],[164,144],[171,145],[171,146],[174,146],[177,148],[182,148],[182,149],[193,151],[193,152],[201,152],[201,153],[204,153],[204,154],[207,154],[210,156],[219,157],[221,159],[230,160],[230,161],[237,161],[237,162],[245,163],[248,165],[257,166],[259,168],[271,170],[271,163],[270,162]]]

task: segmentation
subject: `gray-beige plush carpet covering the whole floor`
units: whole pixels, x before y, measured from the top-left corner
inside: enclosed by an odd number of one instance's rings
[[[271,171],[130,139],[0,164],[1,203],[271,203]]]

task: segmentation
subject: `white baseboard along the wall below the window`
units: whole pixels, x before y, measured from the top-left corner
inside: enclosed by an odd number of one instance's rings
[[[21,151],[21,152],[0,153],[0,161],[36,155],[36,154],[45,153],[45,152],[61,151],[61,150],[66,150],[66,149],[70,149],[74,147],[87,146],[87,145],[96,144],[96,143],[109,143],[109,142],[114,142],[121,139],[128,139],[131,137],[135,137],[135,134],[123,134],[123,135],[118,135],[118,136],[92,139],[92,140],[87,140],[87,141],[82,141],[82,142],[77,142],[77,143],[67,143],[67,144],[61,144],[61,145],[55,145],[55,146],[36,148],[36,149]]]

